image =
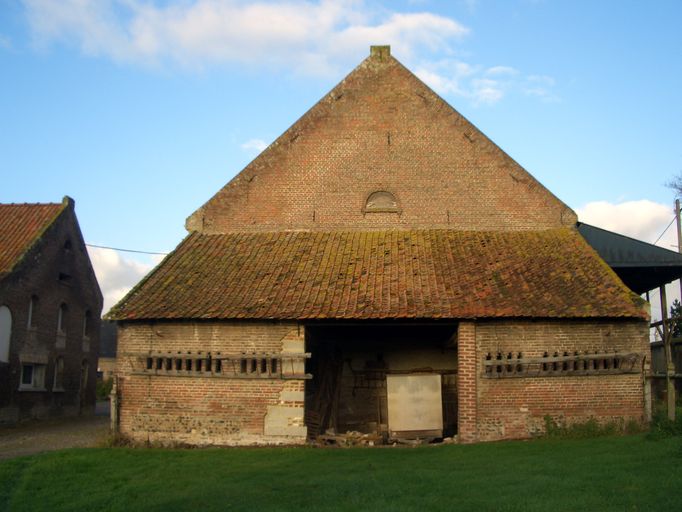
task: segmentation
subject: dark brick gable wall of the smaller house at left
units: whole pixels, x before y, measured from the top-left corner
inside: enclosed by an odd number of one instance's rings
[[[31,297],[37,301],[29,327]],[[57,332],[61,304],[67,306],[63,335]],[[0,362],[0,424],[93,413],[102,296],[72,206],[65,208],[15,272],[0,283],[2,305],[11,311],[12,335],[9,364]],[[86,312],[90,318],[84,336]],[[55,386],[57,358],[64,361],[61,388]],[[23,363],[44,365],[42,389],[20,389]],[[84,363],[88,371],[82,385]]]

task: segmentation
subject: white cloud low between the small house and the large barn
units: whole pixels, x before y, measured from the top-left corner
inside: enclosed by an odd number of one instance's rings
[[[116,251],[97,247],[88,247],[88,254],[104,296],[102,314],[109,311],[161,260],[161,257],[154,257],[151,263],[142,263],[123,257]]]

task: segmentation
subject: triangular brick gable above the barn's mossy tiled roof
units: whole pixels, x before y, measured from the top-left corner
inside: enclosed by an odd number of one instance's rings
[[[372,209],[372,197],[389,208]],[[576,220],[387,47],[373,47],[186,226],[204,233],[526,230]]]

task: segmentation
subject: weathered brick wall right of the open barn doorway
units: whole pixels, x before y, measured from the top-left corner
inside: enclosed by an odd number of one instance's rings
[[[580,320],[477,323],[477,435],[474,440],[540,434],[545,428],[545,416],[559,424],[585,422],[590,418],[600,422],[645,421],[641,372],[507,379],[483,376],[483,362],[488,353],[521,352],[526,357],[542,357],[545,353],[575,351],[638,353],[649,359],[648,325],[643,321]],[[463,378],[462,371],[460,352]]]

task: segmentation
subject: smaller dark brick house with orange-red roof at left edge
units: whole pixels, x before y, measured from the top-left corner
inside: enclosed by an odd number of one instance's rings
[[[73,199],[0,204],[0,424],[94,412],[101,312]]]

